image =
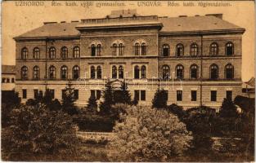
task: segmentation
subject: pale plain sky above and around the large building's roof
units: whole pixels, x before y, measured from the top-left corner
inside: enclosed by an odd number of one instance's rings
[[[56,2],[56,1],[55,1]],[[146,4],[136,1],[125,1],[124,6],[108,6],[106,2],[91,2],[93,7],[83,7],[85,1],[75,2],[77,6],[67,7],[66,2],[60,2],[60,6],[52,6],[52,1],[40,2],[42,6],[31,6],[30,3],[7,1],[2,2],[2,64],[15,64],[15,41],[13,37],[19,36],[31,29],[38,28],[47,21],[81,20],[90,18],[102,18],[110,15],[113,10],[137,9],[139,15],[159,15],[176,17],[178,15],[205,15],[222,13],[223,20],[245,28],[242,37],[242,80],[248,81],[254,77],[255,63],[255,15],[254,1],[221,1],[223,4],[229,3],[228,7],[199,7],[198,2],[194,2],[193,7],[184,7],[183,2],[177,1],[175,7],[168,2],[147,2]],[[204,1],[207,2],[207,1]],[[209,1],[214,2],[214,1]],[[220,2],[220,1],[218,1]],[[72,3],[72,2],[70,2]],[[122,3],[119,1],[119,4]],[[148,5],[153,6],[148,6]],[[29,6],[28,6],[29,5]],[[110,4],[107,4],[110,5]],[[141,6],[146,5],[146,6]],[[155,7],[159,6],[160,7]],[[178,6],[177,6],[178,5]]]

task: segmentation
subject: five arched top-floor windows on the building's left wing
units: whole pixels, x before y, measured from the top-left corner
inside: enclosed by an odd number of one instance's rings
[[[50,47],[48,51],[48,58],[49,59],[56,59],[56,48]],[[68,48],[66,46],[61,47],[61,58],[67,59],[69,55]],[[21,59],[28,59],[29,50],[28,48],[24,47],[21,49]],[[79,46],[74,46],[73,48],[73,58],[80,57],[80,48]],[[34,47],[33,49],[33,59],[40,59],[40,49],[38,47]]]

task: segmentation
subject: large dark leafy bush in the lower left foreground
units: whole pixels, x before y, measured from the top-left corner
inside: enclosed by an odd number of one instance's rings
[[[76,152],[79,141],[72,118],[64,112],[51,111],[45,104],[13,109],[10,125],[2,131],[3,152]]]

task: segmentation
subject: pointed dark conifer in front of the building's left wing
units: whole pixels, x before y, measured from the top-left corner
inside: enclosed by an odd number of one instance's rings
[[[78,113],[77,107],[74,105],[74,101],[76,101],[74,96],[74,88],[72,88],[72,84],[69,81],[67,86],[65,87],[65,95],[62,99],[62,109],[64,112],[69,113],[70,115],[74,115]]]

